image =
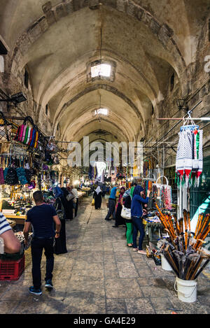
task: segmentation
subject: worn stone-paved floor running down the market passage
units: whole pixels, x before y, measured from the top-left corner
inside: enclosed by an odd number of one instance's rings
[[[54,290],[36,297],[29,294],[31,257],[18,281],[0,281],[0,313],[162,314],[210,313],[210,279],[198,278],[197,302],[186,304],[174,291],[174,273],[163,271],[127,248],[125,228],[114,229],[101,210],[85,198],[78,218],[66,222],[68,253],[55,255]],[[45,275],[43,256],[42,276]]]

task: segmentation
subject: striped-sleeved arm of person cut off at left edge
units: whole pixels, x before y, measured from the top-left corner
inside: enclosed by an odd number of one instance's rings
[[[3,239],[4,252],[13,254],[20,251],[20,241],[15,236],[13,229],[8,224],[4,215],[0,212],[0,238]]]

